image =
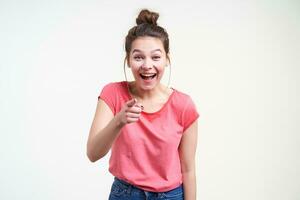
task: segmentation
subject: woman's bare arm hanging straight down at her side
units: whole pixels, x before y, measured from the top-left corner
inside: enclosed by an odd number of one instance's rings
[[[198,120],[185,130],[178,147],[183,176],[184,200],[196,200],[195,155],[197,148]]]

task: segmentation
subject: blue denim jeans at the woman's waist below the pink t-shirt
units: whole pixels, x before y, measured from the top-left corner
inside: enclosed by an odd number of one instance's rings
[[[109,200],[183,200],[183,184],[166,192],[150,192],[114,177]]]

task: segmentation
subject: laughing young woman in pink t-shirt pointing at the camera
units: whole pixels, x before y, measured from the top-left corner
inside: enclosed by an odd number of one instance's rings
[[[108,83],[98,96],[87,156],[95,162],[111,149],[110,200],[196,200],[199,114],[189,95],[160,82],[170,58],[158,17],[142,10],[126,36],[124,72],[127,63],[135,80]]]

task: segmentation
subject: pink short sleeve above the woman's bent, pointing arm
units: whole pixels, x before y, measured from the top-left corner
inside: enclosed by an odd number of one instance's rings
[[[115,115],[116,114],[116,90],[113,83],[109,83],[102,88],[102,91],[98,96],[98,101],[100,98],[109,106],[109,108]]]

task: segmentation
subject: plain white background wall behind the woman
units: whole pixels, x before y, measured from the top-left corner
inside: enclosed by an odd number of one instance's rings
[[[2,0],[0,199],[108,198],[109,155],[89,162],[86,141],[141,8],[160,13],[171,86],[200,113],[197,199],[300,199],[296,0]]]

